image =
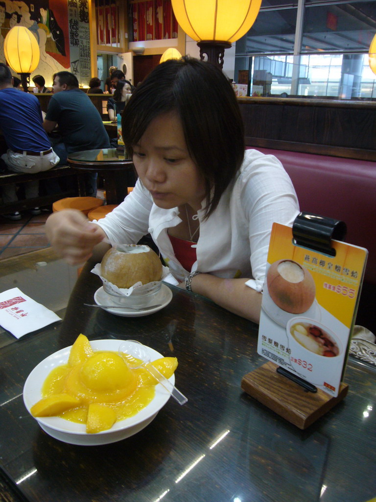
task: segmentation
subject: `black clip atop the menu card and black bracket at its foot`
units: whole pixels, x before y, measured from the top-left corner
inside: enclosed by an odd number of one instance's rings
[[[295,218],[292,225],[292,234],[294,236],[294,244],[313,249],[325,255],[335,256],[335,249],[331,246],[331,240],[344,239],[346,235],[346,223],[333,218],[319,216],[318,214],[301,212]],[[317,388],[314,385],[285,368],[278,367],[277,373],[286,376],[286,378],[303,387],[305,391],[317,392]]]

